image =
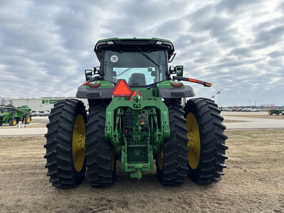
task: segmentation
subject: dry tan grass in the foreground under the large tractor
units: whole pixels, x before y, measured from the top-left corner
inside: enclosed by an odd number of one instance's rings
[[[166,187],[154,172],[141,180],[118,168],[108,188],[85,179],[56,189],[46,177],[44,137],[0,138],[0,212],[284,213],[284,130],[226,131],[226,175],[218,184]]]

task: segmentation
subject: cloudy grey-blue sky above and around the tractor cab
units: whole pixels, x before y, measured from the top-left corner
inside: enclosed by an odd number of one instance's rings
[[[100,39],[169,39],[221,106],[284,106],[284,1],[0,0],[0,97],[75,97]],[[220,95],[216,95],[220,92]]]

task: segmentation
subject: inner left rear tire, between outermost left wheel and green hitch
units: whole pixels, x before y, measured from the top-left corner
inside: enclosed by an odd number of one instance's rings
[[[106,107],[103,102],[91,103],[86,133],[86,166],[89,184],[112,186],[116,179],[116,160],[111,142],[105,138]]]

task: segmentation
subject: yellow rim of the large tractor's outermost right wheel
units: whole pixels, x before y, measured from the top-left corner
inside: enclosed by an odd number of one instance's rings
[[[191,112],[189,112],[186,116],[186,124],[185,127],[187,128],[187,147],[189,152],[187,153],[188,156],[188,164],[192,169],[196,169],[200,159],[200,135],[197,120]]]

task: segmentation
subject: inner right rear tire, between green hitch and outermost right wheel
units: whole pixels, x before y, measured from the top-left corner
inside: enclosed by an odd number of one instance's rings
[[[171,132],[156,155],[156,171],[162,184],[181,185],[186,178],[188,162],[184,111],[178,100],[167,100],[165,104],[169,110]]]

